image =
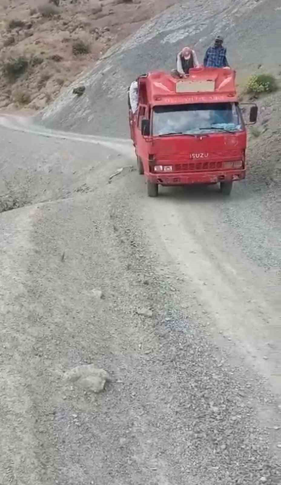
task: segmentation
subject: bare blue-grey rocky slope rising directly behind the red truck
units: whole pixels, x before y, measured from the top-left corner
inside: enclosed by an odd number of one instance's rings
[[[279,0],[226,0],[223,7],[220,0],[181,1],[146,22],[120,46],[109,49],[98,65],[40,113],[38,121],[51,129],[128,137],[128,84],[151,69],[175,67],[176,53],[184,46],[193,46],[202,62],[205,49],[218,33],[224,36],[240,92],[254,74],[273,75],[280,87]],[[73,95],[73,87],[79,83],[86,87],[82,97]],[[249,129],[250,174],[258,180],[279,183],[280,89],[255,100],[259,119]],[[243,101],[249,101],[249,96],[244,95]]]

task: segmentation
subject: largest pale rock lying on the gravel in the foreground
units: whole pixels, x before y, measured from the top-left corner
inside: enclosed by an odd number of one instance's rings
[[[109,381],[109,374],[103,369],[97,369],[93,364],[89,364],[65,372],[64,379],[87,391],[97,393],[104,390],[105,383]]]

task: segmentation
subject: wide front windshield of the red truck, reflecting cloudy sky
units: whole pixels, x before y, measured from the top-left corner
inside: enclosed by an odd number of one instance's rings
[[[236,103],[198,103],[156,106],[153,134],[202,134],[241,131],[242,118]]]

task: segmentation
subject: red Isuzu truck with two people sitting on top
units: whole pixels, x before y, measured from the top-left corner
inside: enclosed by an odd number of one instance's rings
[[[129,123],[150,197],[159,185],[215,183],[229,195],[245,178],[247,137],[234,70],[199,67],[183,78],[151,72],[138,78],[138,95]],[[246,104],[254,124],[257,106]]]

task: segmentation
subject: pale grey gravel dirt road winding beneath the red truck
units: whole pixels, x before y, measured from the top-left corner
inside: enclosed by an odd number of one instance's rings
[[[279,485],[272,193],[148,199],[130,142],[0,122],[1,484]]]

